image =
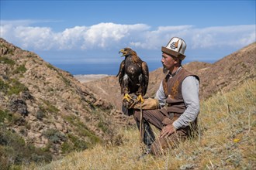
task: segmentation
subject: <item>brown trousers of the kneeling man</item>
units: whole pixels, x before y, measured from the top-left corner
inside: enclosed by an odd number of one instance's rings
[[[135,110],[133,117],[140,127],[140,110]],[[189,127],[180,128],[174,134],[167,138],[155,138],[150,124],[153,124],[159,131],[167,124],[172,124],[178,117],[170,117],[167,110],[143,110],[144,121],[144,144],[150,147],[150,151],[154,155],[164,154],[166,148],[175,147],[179,141],[183,141],[189,136]]]

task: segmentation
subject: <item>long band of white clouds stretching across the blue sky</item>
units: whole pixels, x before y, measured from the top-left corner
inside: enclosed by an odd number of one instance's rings
[[[63,32],[50,27],[31,26],[36,21],[2,21],[2,38],[25,49],[116,49],[125,46],[137,49],[160,49],[172,36],[185,39],[192,49],[243,47],[255,41],[255,25],[219,26],[159,26],[151,30],[145,24],[121,25],[112,22],[94,26],[74,26]]]

